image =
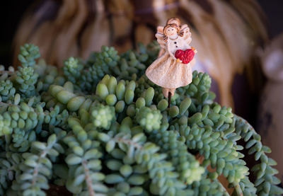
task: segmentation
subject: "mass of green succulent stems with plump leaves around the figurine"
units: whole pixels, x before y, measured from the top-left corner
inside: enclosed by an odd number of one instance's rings
[[[0,195],[46,195],[50,185],[74,195],[229,195],[219,175],[233,195],[282,195],[270,148],[214,102],[208,74],[194,71],[168,108],[144,75],[158,50],[102,47],[58,71],[36,62],[34,45],[21,47],[17,71],[0,67]]]

